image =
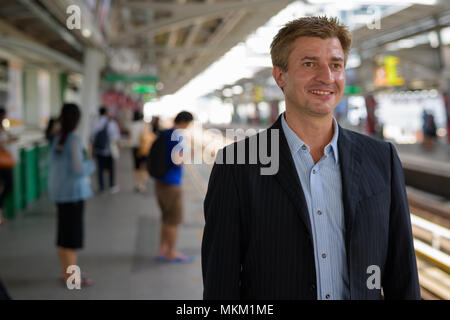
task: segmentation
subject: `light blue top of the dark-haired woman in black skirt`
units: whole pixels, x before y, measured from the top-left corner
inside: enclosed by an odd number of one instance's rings
[[[81,139],[69,133],[61,153],[55,152],[60,135],[52,142],[49,154],[49,197],[56,203],[77,202],[93,196],[89,175],[94,162],[84,159]]]

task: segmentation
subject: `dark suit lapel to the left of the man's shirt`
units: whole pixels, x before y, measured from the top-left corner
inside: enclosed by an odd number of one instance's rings
[[[312,237],[311,232],[311,222],[309,220],[308,206],[306,204],[305,195],[303,194],[303,189],[300,184],[300,179],[295,169],[294,160],[292,159],[291,151],[289,145],[286,141],[286,136],[284,135],[283,128],[281,126],[281,117],[270,128],[279,130],[279,143],[280,143],[280,161],[279,170],[275,174],[275,179],[284,189],[289,199],[296,207],[296,212],[300,220],[305,224],[309,235]]]

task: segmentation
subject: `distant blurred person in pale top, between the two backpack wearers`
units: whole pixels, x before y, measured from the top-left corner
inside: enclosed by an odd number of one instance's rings
[[[143,121],[143,115],[140,111],[133,114],[133,122],[130,126],[130,145],[134,162],[134,184],[136,192],[145,192],[148,181],[148,171],[146,168],[146,159],[150,152],[152,142],[156,139],[151,130],[151,126]]]

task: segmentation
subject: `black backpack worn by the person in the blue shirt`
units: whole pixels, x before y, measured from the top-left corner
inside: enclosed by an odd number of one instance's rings
[[[156,179],[164,177],[169,170],[167,163],[167,134],[163,131],[153,142],[147,157],[147,170]]]

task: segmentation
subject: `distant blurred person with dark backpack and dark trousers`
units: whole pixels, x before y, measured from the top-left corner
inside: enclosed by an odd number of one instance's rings
[[[120,131],[117,122],[110,117],[106,107],[100,107],[99,117],[94,121],[90,141],[92,154],[97,160],[97,178],[99,192],[105,191],[104,173],[109,175],[109,190],[111,194],[119,192],[115,182],[114,159],[118,157]]]

